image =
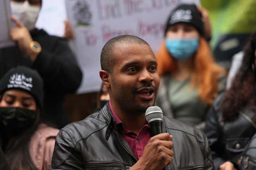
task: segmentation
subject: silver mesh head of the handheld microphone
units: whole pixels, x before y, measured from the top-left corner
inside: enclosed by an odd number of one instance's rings
[[[146,110],[146,120],[148,123],[152,121],[163,121],[164,113],[158,106],[151,106]]]

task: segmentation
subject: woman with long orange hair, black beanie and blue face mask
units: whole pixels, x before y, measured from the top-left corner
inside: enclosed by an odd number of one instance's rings
[[[166,116],[200,128],[214,98],[225,89],[226,72],[212,58],[198,9],[181,4],[167,19],[156,54],[161,76],[156,102]]]

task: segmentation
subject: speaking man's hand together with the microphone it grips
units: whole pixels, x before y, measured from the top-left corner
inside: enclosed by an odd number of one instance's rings
[[[172,136],[162,133],[163,112],[157,106],[146,110],[146,119],[150,125],[151,138],[145,146],[139,161],[130,170],[162,170],[170,164],[173,157]]]

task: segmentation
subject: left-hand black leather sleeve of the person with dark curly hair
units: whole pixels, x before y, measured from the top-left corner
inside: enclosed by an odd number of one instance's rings
[[[206,126],[204,128],[204,133],[208,138],[209,147],[212,151],[212,157],[216,170],[218,170],[219,166],[225,162],[225,160],[221,157],[221,155],[223,155],[223,151],[225,150],[225,146],[223,146],[223,143],[221,142],[221,127],[218,123],[219,105],[221,104],[223,95],[223,93],[220,94],[214,101],[214,104],[206,117]]]

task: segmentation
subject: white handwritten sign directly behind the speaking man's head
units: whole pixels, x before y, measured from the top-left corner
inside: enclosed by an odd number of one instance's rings
[[[78,93],[98,91],[101,80],[100,52],[111,38],[139,36],[157,51],[167,16],[181,3],[199,0],[65,0],[67,19],[73,26],[73,51],[83,70]]]

